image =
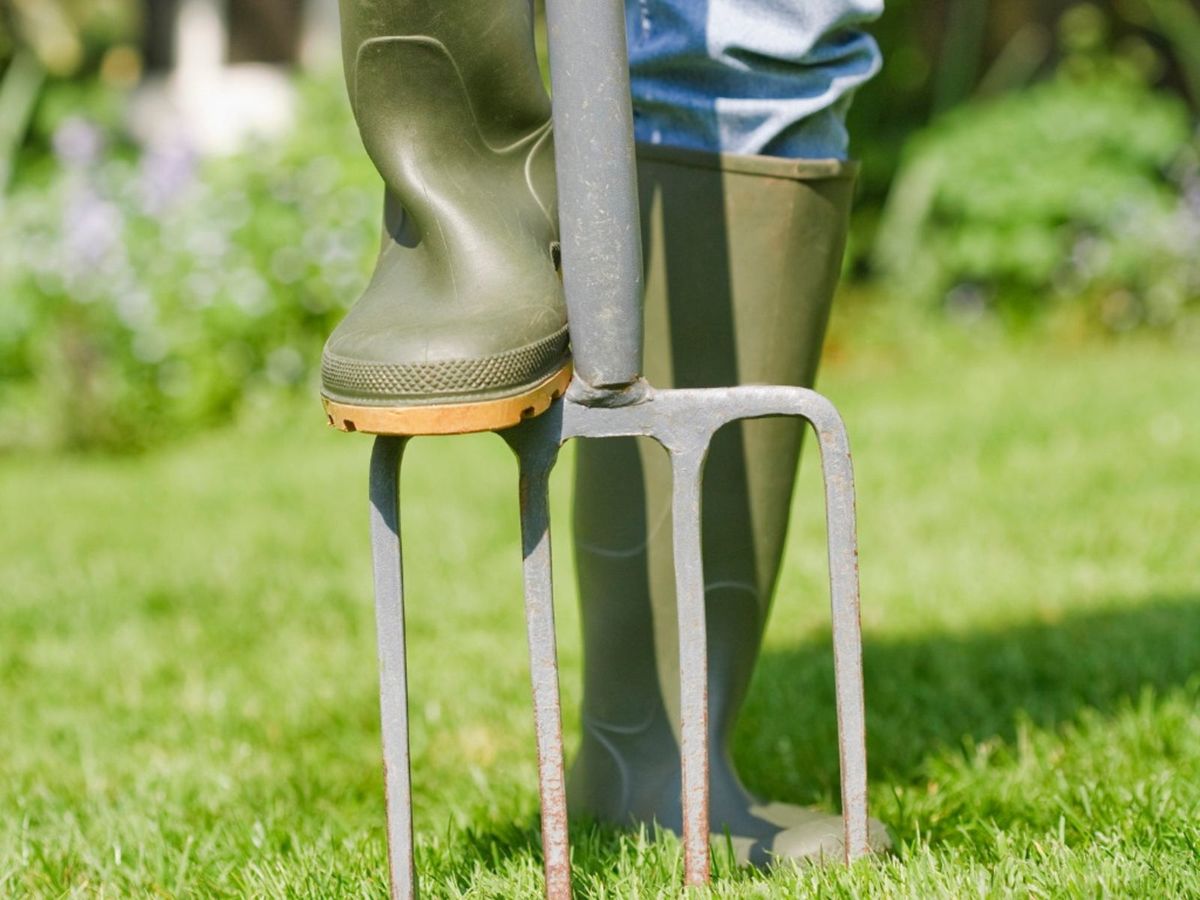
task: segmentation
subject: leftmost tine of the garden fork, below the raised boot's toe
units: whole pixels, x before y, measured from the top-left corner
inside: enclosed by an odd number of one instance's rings
[[[408,750],[404,577],[400,546],[400,463],[407,438],[378,437],[371,451],[371,550],[374,562],[379,718],[388,798],[388,869],[392,900],[416,896],[413,781]]]

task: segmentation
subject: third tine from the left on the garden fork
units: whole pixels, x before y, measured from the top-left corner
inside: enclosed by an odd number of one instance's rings
[[[671,515],[679,626],[679,754],[683,768],[684,881],[707,884],[708,628],[701,548],[701,480],[707,445],[672,451]]]

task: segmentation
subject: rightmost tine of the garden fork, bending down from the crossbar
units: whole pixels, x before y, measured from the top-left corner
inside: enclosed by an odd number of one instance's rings
[[[818,412],[809,420],[817,433],[824,475],[841,815],[846,862],[851,863],[870,851],[866,840],[866,709],[863,696],[854,467],[841,416],[832,403],[823,397],[820,400]]]

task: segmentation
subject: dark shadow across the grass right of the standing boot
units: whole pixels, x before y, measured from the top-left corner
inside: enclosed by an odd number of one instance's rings
[[[1052,728],[1084,708],[1108,713],[1146,689],[1184,684],[1200,672],[1200,594],[989,632],[868,638],[863,653],[871,772],[913,781],[938,748],[1012,740],[1021,721]],[[836,796],[828,638],[763,654],[734,755],[764,796]]]

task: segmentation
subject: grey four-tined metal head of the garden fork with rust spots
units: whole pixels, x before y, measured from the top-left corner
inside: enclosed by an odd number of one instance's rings
[[[816,432],[821,451],[846,860],[868,852],[854,485],[850,445],[838,410],[820,394],[805,388],[750,385],[655,391],[643,385],[635,402],[617,407],[589,406],[569,395],[545,414],[502,432],[517,455],[521,470],[526,623],[548,898],[565,900],[571,893],[550,552],[548,481],[558,451],[570,438],[641,436],[659,442],[671,456],[676,598],[679,607],[685,878],[688,884],[703,884],[709,877],[708,648],[701,552],[704,457],[713,436],[724,425],[740,419],[781,415],[808,420]],[[416,890],[400,548],[398,467],[406,440],[380,437],[371,470],[389,863],[391,895],[397,900],[415,896]]]

